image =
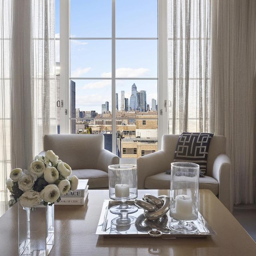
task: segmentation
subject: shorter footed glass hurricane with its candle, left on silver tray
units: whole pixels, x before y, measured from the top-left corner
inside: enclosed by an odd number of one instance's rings
[[[136,165],[112,164],[108,166],[108,182],[110,199],[120,201],[120,204],[110,208],[110,212],[120,214],[121,219],[125,219],[126,222],[132,221],[132,217],[127,220],[127,214],[138,211],[138,207],[128,204],[128,200],[138,196]]]

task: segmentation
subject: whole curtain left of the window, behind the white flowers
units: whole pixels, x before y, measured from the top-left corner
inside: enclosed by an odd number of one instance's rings
[[[0,0],[0,192],[56,133],[54,0]],[[5,206],[6,207],[6,206]]]

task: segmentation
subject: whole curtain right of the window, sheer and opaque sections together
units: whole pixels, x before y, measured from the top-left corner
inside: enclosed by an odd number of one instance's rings
[[[227,138],[234,203],[256,201],[256,1],[168,0],[170,134]]]

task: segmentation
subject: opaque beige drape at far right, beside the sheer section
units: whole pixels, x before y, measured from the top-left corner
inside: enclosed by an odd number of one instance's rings
[[[234,203],[255,203],[256,1],[212,1],[212,127],[227,138]]]

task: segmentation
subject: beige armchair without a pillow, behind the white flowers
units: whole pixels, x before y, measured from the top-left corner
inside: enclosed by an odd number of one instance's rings
[[[47,150],[70,165],[72,175],[89,179],[90,189],[108,189],[108,166],[119,164],[119,157],[104,149],[103,134],[48,134],[40,154]]]

